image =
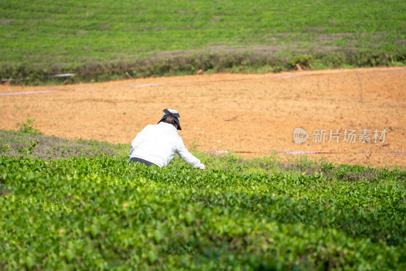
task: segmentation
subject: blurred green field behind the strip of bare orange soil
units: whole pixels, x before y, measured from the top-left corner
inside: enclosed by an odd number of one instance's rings
[[[2,1],[0,77],[132,76],[403,65],[395,1]],[[71,80],[105,80],[122,71]],[[36,81],[36,79],[38,79]],[[37,82],[38,83],[38,82]]]

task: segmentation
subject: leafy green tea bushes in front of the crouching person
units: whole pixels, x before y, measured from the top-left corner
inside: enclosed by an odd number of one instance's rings
[[[404,270],[406,172],[320,172],[2,155],[0,269]]]

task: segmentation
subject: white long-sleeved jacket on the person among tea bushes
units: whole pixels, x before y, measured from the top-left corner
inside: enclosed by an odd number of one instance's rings
[[[139,132],[131,142],[128,158],[141,158],[162,167],[171,162],[175,152],[193,167],[201,170],[205,168],[205,165],[186,149],[175,126],[165,122],[147,125]]]

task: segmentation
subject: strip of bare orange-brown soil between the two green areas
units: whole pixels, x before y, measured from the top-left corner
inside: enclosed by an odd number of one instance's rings
[[[53,92],[38,93],[49,90]],[[278,155],[404,167],[405,153],[385,152],[406,151],[405,95],[402,67],[1,85],[0,128],[18,129],[29,115],[35,119],[32,126],[47,135],[129,145],[147,124],[158,122],[163,109],[172,108],[181,115],[179,134],[186,146],[196,145],[199,151],[228,150],[245,157],[322,152]],[[294,142],[297,127],[309,133],[306,142]],[[324,143],[313,142],[316,129],[326,130]],[[336,138],[328,143],[330,129],[339,129],[339,143]],[[346,129],[356,130],[354,143],[343,141]],[[358,142],[364,129],[367,140]],[[376,129],[386,129],[384,141],[375,143]]]

